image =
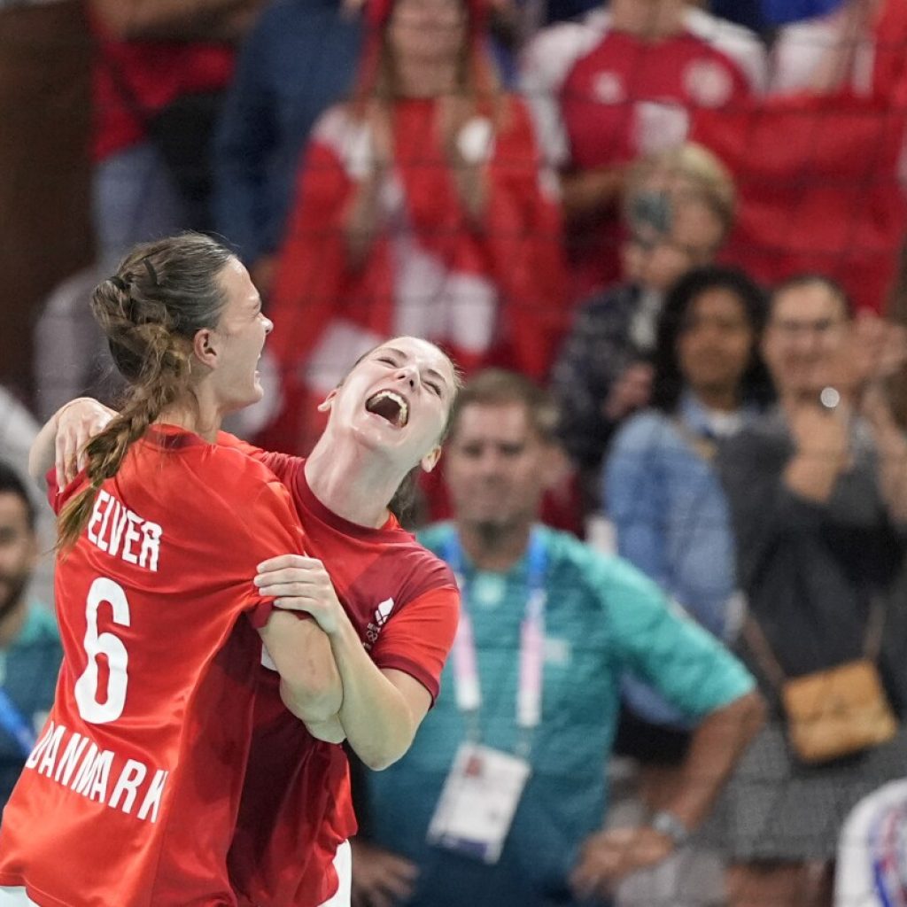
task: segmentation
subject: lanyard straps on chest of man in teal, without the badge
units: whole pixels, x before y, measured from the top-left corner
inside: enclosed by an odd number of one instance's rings
[[[470,720],[473,742],[478,742],[479,715],[482,710],[482,684],[473,639],[473,621],[469,614],[469,584],[463,571],[463,548],[456,532],[447,541],[444,551],[457,584],[460,587],[462,608],[460,624],[453,640],[453,678],[456,685],[456,704]],[[526,756],[532,731],[541,720],[541,679],[545,646],[545,590],[548,552],[538,528],[529,539],[527,561],[526,611],[520,628],[520,676],[516,700],[516,723],[521,731],[518,755]]]

